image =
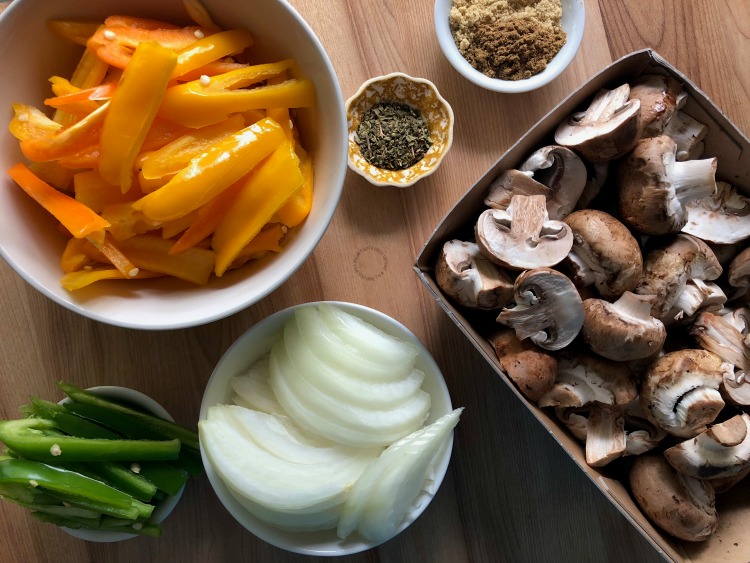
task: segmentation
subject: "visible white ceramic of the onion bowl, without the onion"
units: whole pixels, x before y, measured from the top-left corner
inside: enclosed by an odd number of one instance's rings
[[[445,385],[445,380],[440,373],[440,368],[438,368],[427,349],[409,329],[395,319],[362,305],[340,302],[331,302],[331,304],[358,316],[388,334],[411,342],[419,349],[416,367],[424,372],[425,379],[422,388],[432,397],[432,408],[430,416],[427,419],[427,424],[434,422],[440,416],[448,414],[453,410],[450,394]],[[230,380],[244,373],[256,360],[269,353],[271,345],[279,336],[286,321],[294,315],[297,307],[315,305],[317,303],[307,303],[279,311],[256,324],[240,336],[222,356],[206,385],[201,403],[200,419],[203,420],[206,418],[208,408],[213,405],[231,404],[233,392],[229,385]],[[428,479],[431,482],[431,486],[429,490],[420,493],[420,496],[416,500],[415,508],[407,514],[399,526],[397,534],[401,533],[414,522],[429,505],[448,469],[452,447],[453,439],[451,438],[439,452],[430,467]],[[376,543],[363,540],[356,534],[352,534],[346,540],[341,540],[336,536],[336,530],[287,532],[258,520],[233,496],[232,492],[230,492],[229,488],[211,466],[202,447],[201,456],[206,475],[221,503],[240,524],[262,540],[288,551],[320,556],[350,555],[377,545]]]

